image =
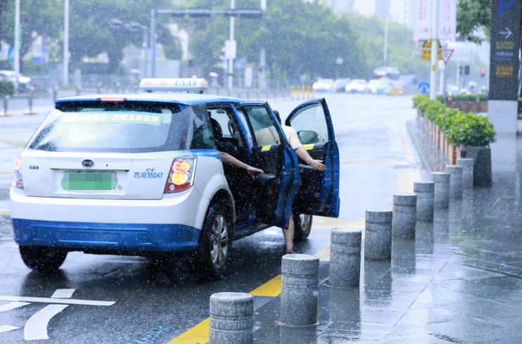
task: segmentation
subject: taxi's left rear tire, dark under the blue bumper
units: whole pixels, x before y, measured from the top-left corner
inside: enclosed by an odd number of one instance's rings
[[[56,271],[67,257],[67,251],[44,246],[20,246],[24,264],[37,272]]]

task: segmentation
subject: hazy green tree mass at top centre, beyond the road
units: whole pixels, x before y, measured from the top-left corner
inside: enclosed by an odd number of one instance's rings
[[[192,0],[185,8],[227,8],[223,2]],[[259,1],[241,1],[243,9],[258,9]],[[184,20],[191,32],[193,59],[208,66],[218,65],[224,41],[229,38],[229,20],[222,17]],[[257,65],[260,49],[267,53],[267,68],[272,76],[295,79],[336,77],[356,72],[368,73],[366,51],[359,34],[345,17],[333,15],[319,1],[283,0],[268,4],[261,20],[236,20],[238,56]],[[338,65],[336,60],[342,58]],[[263,66],[265,68],[265,66]]]

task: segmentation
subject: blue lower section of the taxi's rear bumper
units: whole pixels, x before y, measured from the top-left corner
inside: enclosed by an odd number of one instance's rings
[[[12,219],[15,241],[71,250],[188,252],[200,229],[183,224],[114,224]]]

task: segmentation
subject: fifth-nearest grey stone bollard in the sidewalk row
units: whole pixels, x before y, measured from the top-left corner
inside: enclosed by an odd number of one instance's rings
[[[393,195],[392,236],[414,238],[417,196],[415,193]]]

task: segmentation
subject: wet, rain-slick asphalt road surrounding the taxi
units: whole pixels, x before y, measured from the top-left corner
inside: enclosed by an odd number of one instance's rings
[[[426,174],[405,126],[414,118],[411,98],[326,99],[340,149],[341,219],[314,219],[310,239],[296,246],[298,253],[319,257],[327,257],[331,228],[364,227],[366,209],[390,207],[393,193],[412,191],[412,181]],[[298,103],[271,105],[285,117]],[[0,343],[23,343],[45,333],[49,339],[42,343],[204,343],[174,338],[208,317],[212,293],[248,293],[280,274],[284,241],[276,228],[236,241],[222,281],[207,281],[180,261],[83,253],[69,253],[54,276],[30,272],[11,238],[7,199],[15,155],[50,108],[37,105],[39,115],[13,111],[13,117],[0,117]],[[50,300],[58,297],[61,304]],[[256,309],[272,299],[257,296]]]

